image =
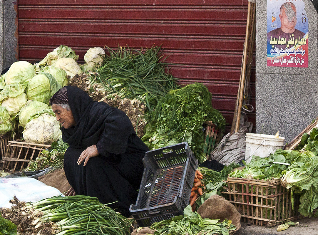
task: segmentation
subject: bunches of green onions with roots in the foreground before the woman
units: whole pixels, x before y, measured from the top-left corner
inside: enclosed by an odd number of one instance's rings
[[[17,225],[19,234],[130,234],[130,221],[95,197],[56,196],[36,203],[14,197],[10,203],[15,205],[0,211],[3,218]]]

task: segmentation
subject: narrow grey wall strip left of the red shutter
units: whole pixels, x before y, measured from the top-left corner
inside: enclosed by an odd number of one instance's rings
[[[9,67],[16,59],[17,38],[14,36],[17,26],[15,25],[16,11],[14,0],[0,1],[0,71]]]

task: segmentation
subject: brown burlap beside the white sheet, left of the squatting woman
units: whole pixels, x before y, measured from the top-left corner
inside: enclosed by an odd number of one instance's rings
[[[71,188],[71,185],[66,179],[64,169],[55,169],[44,176],[40,176],[38,180],[45,183],[46,185],[58,189],[64,195],[67,190]]]

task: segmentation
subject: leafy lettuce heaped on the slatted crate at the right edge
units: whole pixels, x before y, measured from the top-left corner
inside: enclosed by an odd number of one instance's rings
[[[235,170],[229,176],[262,180],[278,178],[282,186],[292,189],[292,197],[299,194],[300,214],[313,216],[318,208],[318,129],[314,128],[310,135],[305,133],[304,136],[299,150],[278,149],[265,158],[253,156],[244,169]]]

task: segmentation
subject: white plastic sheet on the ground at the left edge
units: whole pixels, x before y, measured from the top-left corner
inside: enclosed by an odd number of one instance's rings
[[[38,202],[62,193],[34,178],[0,178],[0,207],[11,208],[9,201],[16,196],[19,201]],[[62,195],[63,196],[63,195]]]

